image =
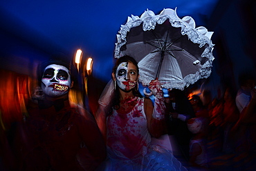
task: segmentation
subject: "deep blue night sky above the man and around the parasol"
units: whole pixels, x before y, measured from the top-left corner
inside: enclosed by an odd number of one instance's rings
[[[205,19],[216,4],[217,0],[9,0],[0,3],[1,27],[46,53],[59,50],[73,54],[81,48],[84,56],[93,58],[93,75],[107,81],[113,65],[116,34],[131,14],[140,16],[147,9],[159,14],[163,8],[177,8],[180,18],[191,16],[198,27],[205,26]]]

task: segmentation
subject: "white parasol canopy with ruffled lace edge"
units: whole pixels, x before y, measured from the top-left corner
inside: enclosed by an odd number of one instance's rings
[[[139,81],[148,86],[158,79],[162,88],[183,90],[211,73],[213,32],[195,28],[192,17],[180,19],[176,9],[160,14],[146,10],[131,15],[117,35],[115,57],[134,57],[140,69]]]

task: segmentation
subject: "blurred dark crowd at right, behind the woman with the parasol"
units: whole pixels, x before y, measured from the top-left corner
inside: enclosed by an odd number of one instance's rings
[[[190,170],[255,170],[255,93],[255,77],[246,74],[239,78],[239,90],[226,86],[213,99],[208,90],[170,91],[167,125],[176,128],[169,134]]]

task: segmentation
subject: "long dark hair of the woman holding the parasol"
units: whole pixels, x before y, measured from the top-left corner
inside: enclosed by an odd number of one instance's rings
[[[136,66],[137,72],[139,74],[138,62],[133,57],[130,57],[130,56],[127,56],[127,55],[125,55],[123,57],[120,57],[119,59],[116,60],[116,63],[113,66],[112,73],[115,74],[118,66],[120,65],[120,63],[123,63],[123,62],[133,63],[134,66]],[[115,84],[116,84],[116,82],[115,82]],[[134,93],[135,96],[141,97],[140,93],[135,88],[132,90],[132,92]],[[107,115],[112,114],[113,109],[115,109],[115,110],[119,109],[120,108],[119,103],[120,103],[120,92],[119,92],[118,88],[116,88],[116,90],[114,91],[113,98],[109,101],[109,105],[107,105],[107,108],[106,108],[107,109],[107,111],[106,111]]]

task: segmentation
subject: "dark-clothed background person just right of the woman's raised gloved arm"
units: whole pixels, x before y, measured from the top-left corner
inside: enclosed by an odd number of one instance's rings
[[[185,161],[189,160],[189,143],[192,133],[188,130],[187,121],[194,116],[194,110],[190,101],[182,90],[169,90],[169,97],[165,98],[167,108],[167,130],[172,144],[176,142],[178,154]],[[179,154],[180,153],[180,154]]]

